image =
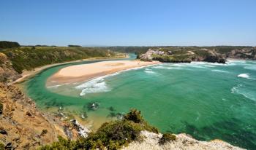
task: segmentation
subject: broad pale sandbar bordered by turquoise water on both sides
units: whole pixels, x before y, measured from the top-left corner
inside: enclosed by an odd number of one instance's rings
[[[83,65],[69,66],[62,68],[48,79],[47,85],[81,82],[93,79],[98,76],[113,74],[118,71],[127,70],[141,66],[149,66],[160,63],[159,61],[140,61],[140,60],[113,60],[89,63]]]

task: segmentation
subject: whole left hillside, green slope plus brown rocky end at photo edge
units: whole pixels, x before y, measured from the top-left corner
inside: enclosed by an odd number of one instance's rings
[[[17,47],[0,50],[0,82],[12,82],[23,71],[53,63],[64,63],[86,58],[124,57],[120,52],[112,52],[93,47]]]

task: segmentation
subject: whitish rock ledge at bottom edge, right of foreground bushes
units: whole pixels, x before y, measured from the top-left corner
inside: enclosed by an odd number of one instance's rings
[[[162,134],[149,133],[148,131],[142,131],[141,135],[144,137],[142,142],[132,142],[129,146],[122,150],[163,150],[163,149],[209,149],[209,150],[241,150],[241,148],[232,146],[221,140],[213,141],[197,141],[194,138],[184,133],[176,135],[176,141],[169,141],[165,144],[159,144],[159,139]]]

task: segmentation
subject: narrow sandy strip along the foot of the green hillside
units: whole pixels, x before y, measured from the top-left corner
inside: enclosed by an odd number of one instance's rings
[[[45,66],[40,66],[37,68],[34,68],[31,71],[23,71],[20,78],[16,79],[13,82],[10,82],[8,84],[18,84],[20,82],[24,82],[26,81],[26,79],[29,79],[32,76],[35,76],[36,74],[39,74],[41,71],[44,71],[47,68],[53,67],[53,66],[59,66],[59,65],[64,65],[64,64],[68,64],[68,63],[78,63],[78,62],[83,62],[83,61],[90,61],[90,60],[110,60],[110,59],[118,59],[118,58],[129,58],[128,55],[125,55],[125,57],[113,57],[113,58],[86,58],[86,59],[82,59],[82,60],[72,60],[72,61],[67,61],[64,63],[53,63],[53,64],[49,64],[49,65],[45,65]]]

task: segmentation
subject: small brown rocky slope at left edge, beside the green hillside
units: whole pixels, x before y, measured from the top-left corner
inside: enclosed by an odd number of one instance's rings
[[[12,68],[12,63],[7,56],[0,52],[0,82],[12,82],[20,76]]]

